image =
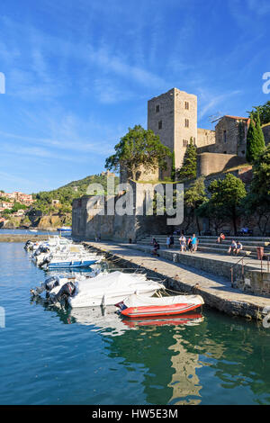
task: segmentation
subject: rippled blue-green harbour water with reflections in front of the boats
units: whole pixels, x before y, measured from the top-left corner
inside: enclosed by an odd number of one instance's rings
[[[0,243],[0,270],[0,404],[270,404],[270,329],[206,309],[132,328],[31,302],[45,274],[23,244]]]

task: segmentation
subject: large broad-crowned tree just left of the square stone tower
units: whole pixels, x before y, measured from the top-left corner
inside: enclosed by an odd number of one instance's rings
[[[166,158],[172,157],[169,148],[165,147],[152,130],[144,130],[140,125],[121,138],[114,147],[115,153],[106,158],[105,168],[120,171],[127,169],[133,180],[137,180],[141,166],[149,171],[159,167],[166,169]]]

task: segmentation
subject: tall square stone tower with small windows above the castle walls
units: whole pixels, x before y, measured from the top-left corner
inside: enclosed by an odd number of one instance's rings
[[[148,130],[159,135],[171,152],[175,151],[175,167],[182,166],[186,147],[191,139],[197,143],[197,96],[177,88],[148,101]],[[161,178],[171,175],[171,160]]]

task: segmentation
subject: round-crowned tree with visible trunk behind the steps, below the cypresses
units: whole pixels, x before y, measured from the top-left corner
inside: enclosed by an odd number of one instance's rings
[[[236,235],[241,202],[247,195],[245,184],[237,176],[228,174],[224,179],[212,181],[208,190],[211,193],[211,207],[218,211],[224,220],[232,222]]]

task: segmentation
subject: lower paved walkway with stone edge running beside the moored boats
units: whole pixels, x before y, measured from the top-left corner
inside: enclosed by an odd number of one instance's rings
[[[196,293],[202,295],[204,302],[228,314],[260,319],[260,312],[264,307],[270,307],[269,298],[243,293],[232,288],[228,278],[210,275],[190,266],[173,263],[163,257],[151,257],[148,253],[136,249],[136,245],[111,241],[85,242],[85,244],[102,250],[111,257],[128,262],[130,265],[141,266],[152,275],[166,278],[168,286],[178,292],[191,293],[194,285],[198,284]],[[235,259],[235,257],[230,258]]]

